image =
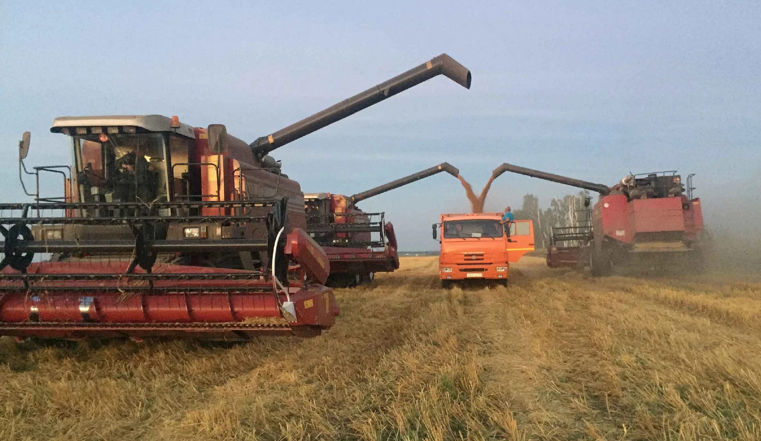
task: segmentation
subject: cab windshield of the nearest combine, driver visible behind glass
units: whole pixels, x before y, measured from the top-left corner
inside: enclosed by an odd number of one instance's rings
[[[164,135],[83,135],[74,138],[74,146],[82,201],[167,200]]]

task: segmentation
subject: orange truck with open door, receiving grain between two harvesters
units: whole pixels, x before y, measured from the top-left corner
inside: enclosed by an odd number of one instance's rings
[[[502,213],[441,214],[433,238],[441,238],[438,275],[441,286],[466,279],[507,284],[510,262],[533,251],[533,224],[515,220],[500,224]]]

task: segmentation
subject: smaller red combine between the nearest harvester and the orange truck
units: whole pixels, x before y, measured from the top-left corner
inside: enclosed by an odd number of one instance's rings
[[[393,225],[384,221],[384,213],[365,213],[357,203],[441,172],[455,177],[460,173],[449,163],[441,163],[356,195],[305,194],[307,233],[323,246],[330,259],[327,284],[356,286],[372,281],[376,272],[398,269]]]

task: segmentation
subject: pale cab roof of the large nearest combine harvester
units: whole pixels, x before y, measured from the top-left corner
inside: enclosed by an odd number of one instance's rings
[[[131,125],[145,128],[149,132],[174,132],[188,138],[196,138],[192,125],[180,122],[180,128],[171,128],[170,122],[171,119],[163,115],[59,116],[53,119],[50,132],[61,133],[65,127]]]

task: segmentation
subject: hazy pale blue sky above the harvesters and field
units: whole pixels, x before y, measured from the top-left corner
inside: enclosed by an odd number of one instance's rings
[[[608,185],[697,173],[709,227],[759,233],[759,2],[0,2],[0,172],[68,163],[56,116],[161,113],[247,141],[442,52],[473,73],[366,109],[275,151],[305,192],[353,194],[448,161],[475,187],[502,162]],[[57,182],[56,182],[57,184]],[[54,187],[51,187],[54,189]],[[487,209],[574,189],[505,174]],[[361,204],[400,248],[468,208],[438,175]]]

